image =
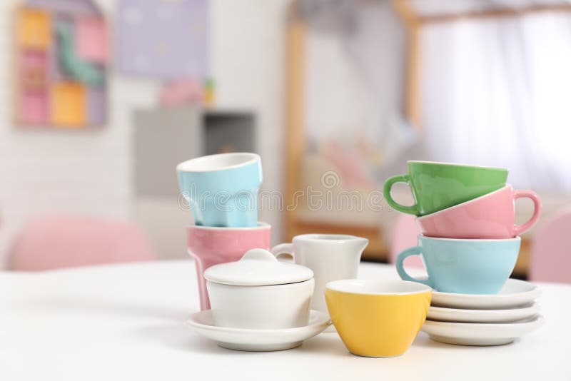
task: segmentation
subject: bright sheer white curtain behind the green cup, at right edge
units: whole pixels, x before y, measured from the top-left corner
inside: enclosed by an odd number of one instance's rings
[[[520,188],[571,191],[571,14],[433,24],[421,38],[432,158],[510,168]]]

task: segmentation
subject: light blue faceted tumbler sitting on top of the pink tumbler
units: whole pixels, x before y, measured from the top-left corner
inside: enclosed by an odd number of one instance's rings
[[[178,164],[176,172],[196,225],[256,227],[262,183],[262,164],[256,153],[193,158]]]

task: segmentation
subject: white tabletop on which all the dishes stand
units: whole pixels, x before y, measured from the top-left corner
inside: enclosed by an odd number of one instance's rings
[[[363,264],[361,278],[397,278]],[[0,272],[0,380],[571,380],[571,286],[543,284],[546,324],[500,347],[433,342],[401,357],[350,355],[335,333],[283,352],[236,352],[185,323],[191,260]]]

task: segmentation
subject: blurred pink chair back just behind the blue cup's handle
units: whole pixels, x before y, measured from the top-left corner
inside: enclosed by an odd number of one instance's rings
[[[401,214],[393,227],[393,235],[390,238],[390,263],[395,263],[398,253],[418,245],[418,235],[420,228],[416,225],[415,216]],[[405,260],[405,265],[423,268],[423,261],[418,255]]]

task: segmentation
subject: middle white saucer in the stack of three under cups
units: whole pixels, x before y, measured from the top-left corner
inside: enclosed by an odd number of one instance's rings
[[[515,322],[539,312],[540,306],[536,303],[507,310],[457,310],[430,306],[427,318],[443,322]]]

